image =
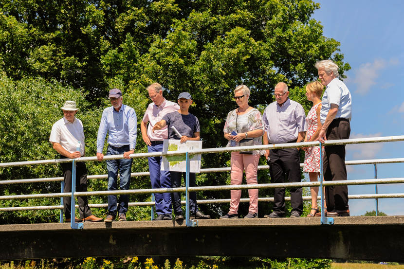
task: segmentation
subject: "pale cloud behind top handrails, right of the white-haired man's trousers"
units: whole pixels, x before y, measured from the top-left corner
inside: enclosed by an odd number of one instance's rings
[[[366,138],[366,137],[379,137],[382,133],[375,134],[355,134],[352,133],[349,138]],[[364,144],[349,144],[346,146],[347,152],[352,154],[352,160],[366,160],[374,159],[378,152],[382,150],[384,143],[364,143]]]

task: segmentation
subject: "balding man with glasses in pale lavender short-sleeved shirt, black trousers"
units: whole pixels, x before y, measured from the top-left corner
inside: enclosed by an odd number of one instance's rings
[[[299,143],[304,139],[307,130],[306,115],[303,107],[289,99],[288,86],[279,82],[275,86],[276,101],[265,108],[262,114],[264,124],[264,144]],[[266,150],[269,160],[269,173],[272,183],[300,182],[299,150],[297,148],[281,148]],[[291,217],[299,217],[303,212],[302,188],[291,188]],[[283,217],[285,208],[285,188],[274,190],[274,211],[264,217]]]

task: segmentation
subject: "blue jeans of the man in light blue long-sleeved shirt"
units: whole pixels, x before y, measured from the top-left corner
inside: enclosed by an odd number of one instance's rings
[[[108,145],[107,155],[120,155],[129,151],[129,145],[114,147]],[[119,187],[121,190],[129,190],[130,172],[132,170],[132,159],[107,160],[108,169],[108,190],[117,190],[118,170],[120,175]],[[120,195],[118,201],[118,213],[128,211],[129,195]],[[116,215],[116,195],[108,196],[108,212],[110,215]]]

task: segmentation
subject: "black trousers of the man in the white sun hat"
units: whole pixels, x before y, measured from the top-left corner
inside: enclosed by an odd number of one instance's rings
[[[61,156],[61,158],[66,158]],[[60,163],[63,170],[63,192],[72,192],[72,163],[65,162]],[[76,162],[76,192],[87,192],[87,168],[84,162]],[[78,196],[78,212],[80,213],[80,218],[85,218],[92,215],[87,196]],[[71,203],[72,197],[63,197],[63,210],[65,212],[66,218],[71,218]],[[74,217],[74,212],[73,212]]]

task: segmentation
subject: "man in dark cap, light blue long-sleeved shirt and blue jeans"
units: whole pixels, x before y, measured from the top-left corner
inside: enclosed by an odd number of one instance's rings
[[[118,170],[120,173],[120,189],[129,190],[132,159],[129,155],[135,151],[136,146],[136,112],[122,104],[122,92],[118,89],[110,90],[109,97],[112,107],[105,108],[102,112],[100,126],[97,135],[97,159],[104,159],[103,148],[105,136],[108,132],[107,155],[122,155],[124,159],[107,160],[108,190],[117,190]],[[108,216],[106,222],[111,222],[119,213],[119,221],[126,220],[129,195],[120,195],[117,206],[115,195],[108,196]]]

